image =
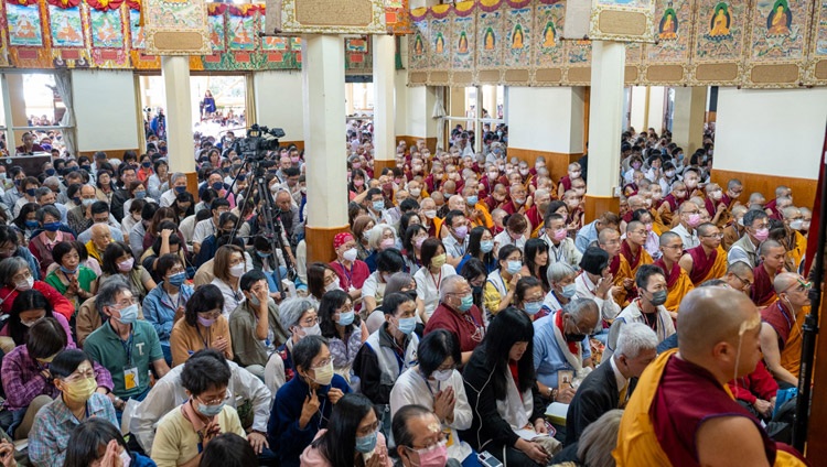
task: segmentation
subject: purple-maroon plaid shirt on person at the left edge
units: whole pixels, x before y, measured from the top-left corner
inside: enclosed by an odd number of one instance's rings
[[[3,357],[2,361],[0,377],[2,377],[3,389],[7,394],[6,402],[3,403],[4,409],[12,411],[25,409],[37,395],[45,394],[54,399],[61,393],[52,384],[52,381],[47,381],[41,374],[41,371],[46,369],[46,367],[30,357],[29,350],[24,345],[15,347],[14,350]],[[94,363],[94,367],[98,387],[111,391],[112,377],[109,374],[109,371],[97,362]]]

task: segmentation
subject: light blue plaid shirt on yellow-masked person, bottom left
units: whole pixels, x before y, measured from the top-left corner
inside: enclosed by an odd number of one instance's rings
[[[86,417],[99,416],[120,428],[115,416],[115,408],[109,398],[94,393],[86,402]],[[55,399],[37,412],[29,436],[29,458],[40,466],[62,466],[66,457],[66,447],[72,431],[80,422],[63,403],[63,398]]]

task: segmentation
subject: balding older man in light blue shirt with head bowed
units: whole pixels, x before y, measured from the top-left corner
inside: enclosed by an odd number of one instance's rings
[[[571,383],[594,368],[589,334],[598,323],[600,308],[589,298],[576,298],[554,315],[534,322],[537,387],[548,401],[570,403],[577,392]]]

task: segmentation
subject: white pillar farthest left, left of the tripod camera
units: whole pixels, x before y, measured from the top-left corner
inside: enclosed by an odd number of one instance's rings
[[[167,148],[170,172],[195,172],[190,100],[190,57],[162,56],[161,75],[167,95]]]

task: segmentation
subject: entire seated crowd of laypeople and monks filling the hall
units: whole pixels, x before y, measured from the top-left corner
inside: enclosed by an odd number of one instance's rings
[[[588,155],[551,174],[486,124],[378,172],[369,124],[330,262],[296,146],[257,186],[196,134],[196,193],[157,138],[0,166],[0,464],[803,463],[762,423],[795,398],[812,213],[711,182],[713,127],[688,158],[624,132],[621,208],[586,222]]]

